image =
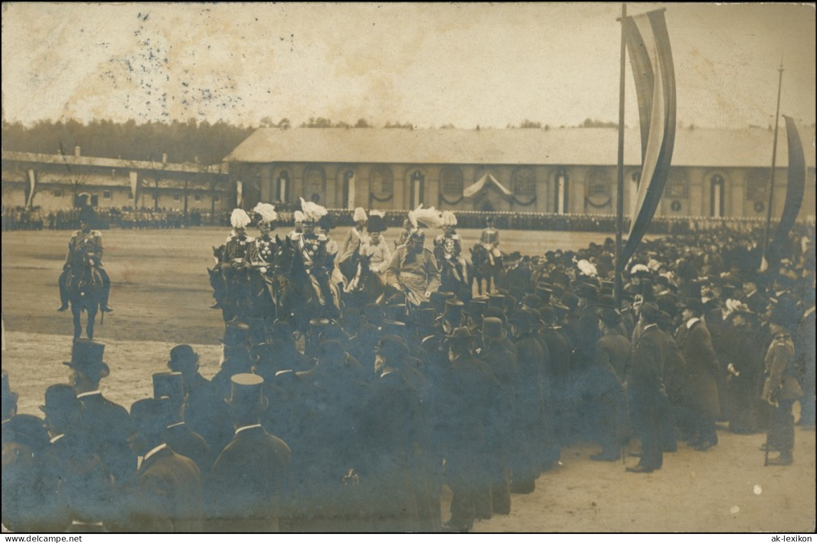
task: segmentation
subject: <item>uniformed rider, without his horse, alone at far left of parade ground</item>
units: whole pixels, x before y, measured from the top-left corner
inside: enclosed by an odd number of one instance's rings
[[[68,243],[68,255],[65,257],[65,265],[60,274],[60,307],[57,311],[68,309],[68,278],[71,270],[77,272],[83,269],[86,263],[90,263],[100,275],[102,281],[102,300],[100,309],[105,312],[113,311],[114,308],[108,305],[110,296],[110,278],[105,268],[102,266],[102,255],[105,248],[102,247],[102,233],[99,230],[92,230],[91,226],[96,220],[94,208],[86,205],[79,211],[79,229],[71,236]]]

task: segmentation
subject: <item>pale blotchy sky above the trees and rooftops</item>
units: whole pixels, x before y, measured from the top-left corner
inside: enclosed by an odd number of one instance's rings
[[[666,7],[682,125],[769,125],[781,57],[782,113],[815,122],[813,6]],[[470,128],[618,118],[618,3],[2,9],[11,122],[324,117]]]

